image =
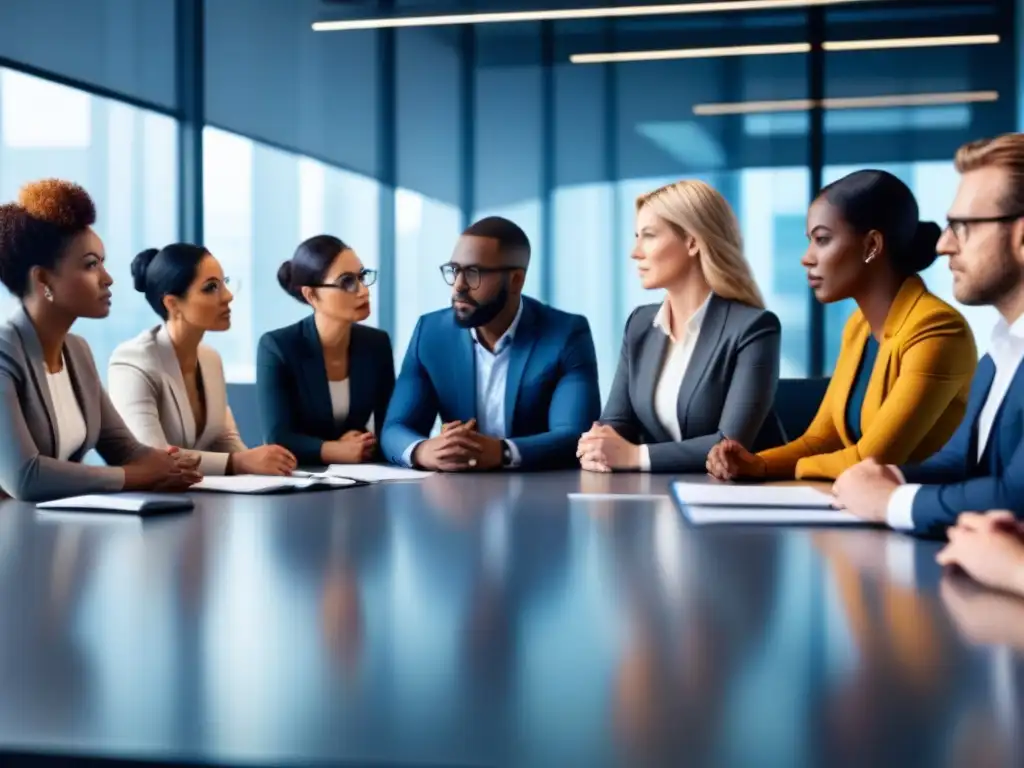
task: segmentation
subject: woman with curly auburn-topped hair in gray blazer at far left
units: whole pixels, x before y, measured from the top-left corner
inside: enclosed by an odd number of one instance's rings
[[[118,490],[183,490],[197,460],[147,447],[111,404],[79,317],[105,317],[111,285],[96,210],[76,184],[36,181],[0,205],[0,283],[20,307],[0,323],[0,490],[40,501]],[[95,449],[108,466],[87,466]]]

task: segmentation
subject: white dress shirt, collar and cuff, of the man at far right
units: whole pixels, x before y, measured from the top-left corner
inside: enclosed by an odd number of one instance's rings
[[[992,424],[999,413],[999,407],[1010,391],[1017,369],[1024,360],[1024,315],[1008,325],[1002,318],[992,331],[992,341],[988,355],[995,365],[995,376],[985,397],[985,404],[978,416],[978,460],[985,454],[985,446],[991,437]],[[898,530],[913,529],[913,500],[918,495],[918,483],[906,483],[896,488],[889,497],[886,518],[889,526]]]

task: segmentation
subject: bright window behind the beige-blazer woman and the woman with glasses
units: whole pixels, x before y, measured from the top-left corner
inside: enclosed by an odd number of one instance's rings
[[[208,343],[228,381],[250,383],[260,336],[310,311],[278,284],[299,243],[334,234],[368,267],[379,266],[379,183],[216,128],[203,141],[205,245],[238,289],[230,332]]]

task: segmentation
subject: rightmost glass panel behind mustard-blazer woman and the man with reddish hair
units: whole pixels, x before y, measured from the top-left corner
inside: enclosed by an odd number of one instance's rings
[[[892,37],[904,32],[906,37],[990,35],[1005,29],[1004,11],[1001,4],[992,2],[837,8],[825,14],[825,35],[837,40],[871,38],[879,25]],[[921,218],[942,226],[958,183],[952,165],[956,148],[1015,124],[1012,37],[1004,34],[997,44],[987,45],[827,52],[826,98],[881,96],[888,101],[825,113],[823,183],[862,168],[889,171],[913,191]],[[922,94],[942,102],[904,103],[908,96]],[[995,311],[956,303],[944,258],[922,278],[932,293],[964,314],[983,353]],[[825,308],[826,372],[835,366],[843,328],[854,309],[849,300]]]

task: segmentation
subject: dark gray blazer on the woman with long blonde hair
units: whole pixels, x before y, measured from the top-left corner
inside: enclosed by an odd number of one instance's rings
[[[646,444],[652,472],[703,472],[708,452],[723,437],[757,450],[762,427],[780,435],[772,413],[781,338],[778,317],[712,294],[679,388],[683,439],[672,439],[654,414],[654,387],[669,345],[669,337],[653,325],[659,307],[637,307],[626,322],[601,423],[631,442]]]

